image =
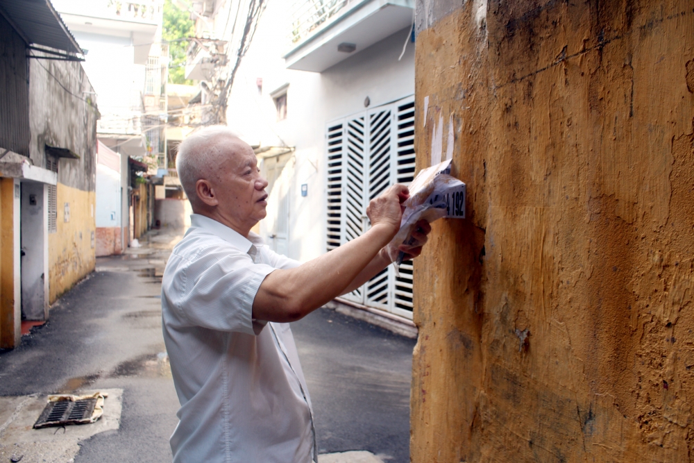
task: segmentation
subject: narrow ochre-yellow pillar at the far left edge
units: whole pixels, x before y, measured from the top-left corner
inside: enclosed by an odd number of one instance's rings
[[[0,348],[14,348],[22,337],[20,192],[19,180],[0,178]]]

